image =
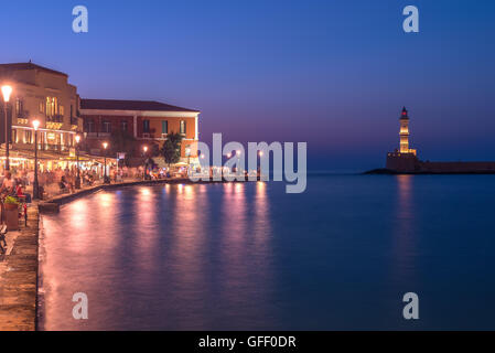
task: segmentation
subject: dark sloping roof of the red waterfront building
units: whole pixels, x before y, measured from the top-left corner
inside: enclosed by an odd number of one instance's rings
[[[154,100],[115,100],[115,99],[80,99],[82,109],[98,110],[147,110],[147,111],[189,111],[198,110],[172,106]]]

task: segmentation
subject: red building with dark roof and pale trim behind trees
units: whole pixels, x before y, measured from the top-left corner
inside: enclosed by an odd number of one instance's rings
[[[169,133],[179,132],[183,136],[181,162],[197,162],[198,110],[159,101],[82,99],[80,115],[93,153],[98,153],[103,141],[118,131],[143,145],[155,142],[160,147]]]

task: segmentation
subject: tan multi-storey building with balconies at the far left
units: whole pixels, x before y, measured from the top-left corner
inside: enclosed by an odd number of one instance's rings
[[[33,63],[0,64],[0,84],[13,92],[8,106],[8,130],[12,150],[33,150],[33,120],[40,121],[37,148],[68,154],[75,146],[75,135],[83,131],[78,118],[77,88],[67,82],[67,74]],[[0,106],[3,99],[0,99]],[[0,109],[4,121],[3,106]],[[4,143],[4,124],[0,124],[0,140]]]

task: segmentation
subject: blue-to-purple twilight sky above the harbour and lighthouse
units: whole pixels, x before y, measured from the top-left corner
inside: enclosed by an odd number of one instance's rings
[[[306,141],[313,170],[383,167],[403,105],[420,158],[495,160],[495,1],[2,1],[0,31],[0,63],[197,108],[206,141]]]

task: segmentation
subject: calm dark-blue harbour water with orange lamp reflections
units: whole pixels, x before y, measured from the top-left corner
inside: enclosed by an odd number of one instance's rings
[[[493,175],[134,186],[42,226],[45,330],[495,329]]]

